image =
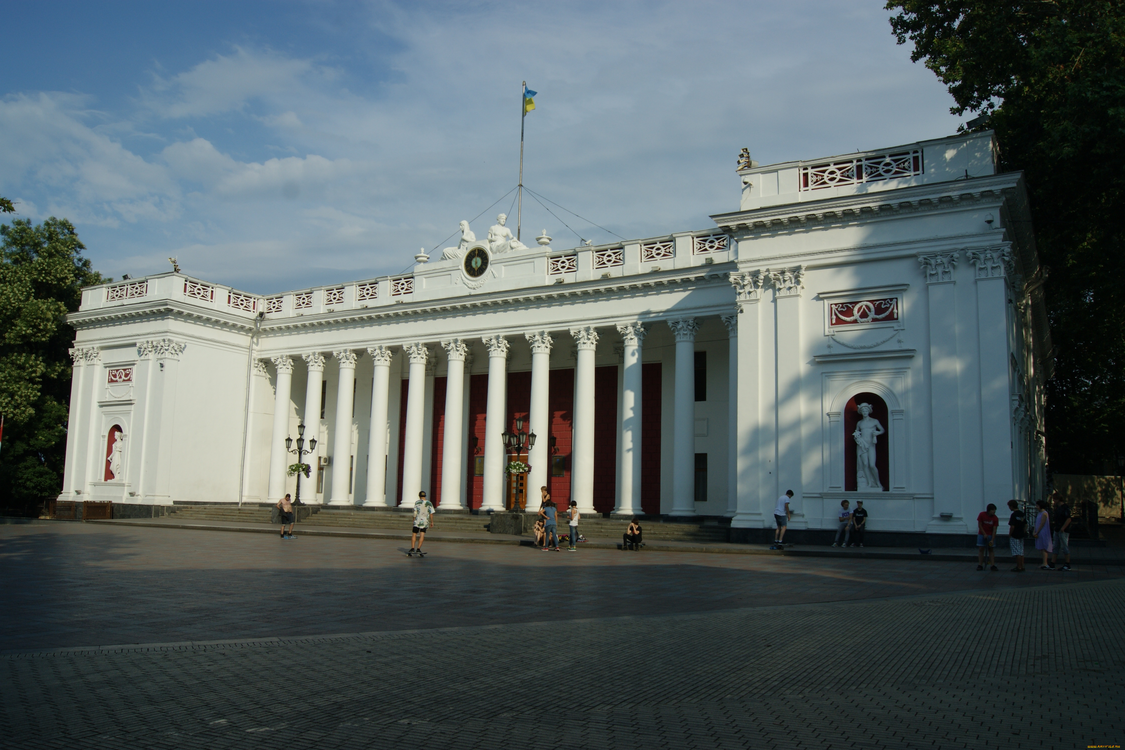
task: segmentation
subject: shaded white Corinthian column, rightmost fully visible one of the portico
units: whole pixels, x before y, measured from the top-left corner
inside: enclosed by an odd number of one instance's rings
[[[695,515],[695,318],[668,320],[676,336],[676,380],[673,399],[672,513]]]

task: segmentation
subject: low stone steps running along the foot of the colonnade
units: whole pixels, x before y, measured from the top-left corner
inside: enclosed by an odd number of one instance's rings
[[[413,525],[413,514],[404,510],[359,510],[350,508],[330,508],[322,506],[303,506],[300,515],[307,517],[298,521],[304,526],[336,526],[352,528],[393,528],[410,531]],[[182,521],[234,521],[242,523],[270,523],[271,508],[244,505],[178,505],[171,517]],[[298,516],[299,517],[299,516]],[[660,521],[644,521],[646,542],[726,542],[729,526],[716,522],[702,523],[665,523]],[[629,527],[628,521],[586,516],[579,524],[579,533],[587,539],[621,540]],[[468,513],[438,513],[434,519],[434,531],[468,532],[483,534],[488,532],[488,516]],[[559,532],[566,533],[566,519],[559,521]]]

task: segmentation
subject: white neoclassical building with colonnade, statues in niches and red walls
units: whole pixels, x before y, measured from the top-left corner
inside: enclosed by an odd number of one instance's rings
[[[1051,343],[1023,175],[991,133],[738,162],[700,232],[524,247],[497,223],[402,275],[258,296],[182,273],[91,287],[60,499],[505,505],[966,533],[1038,497]],[[482,233],[484,234],[484,233]],[[866,406],[865,406],[866,405]],[[537,494],[536,494],[537,495]]]

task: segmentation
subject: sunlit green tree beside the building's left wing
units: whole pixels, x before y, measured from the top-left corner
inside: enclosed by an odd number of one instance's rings
[[[62,487],[74,340],[65,316],[104,279],[66,219],[16,219],[0,241],[0,506],[27,509]]]

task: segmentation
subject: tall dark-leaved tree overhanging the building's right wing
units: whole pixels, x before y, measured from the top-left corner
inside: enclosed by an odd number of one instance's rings
[[[1051,468],[1100,473],[1125,452],[1125,10],[1120,0],[888,2],[945,83],[1023,170],[1054,343]]]

